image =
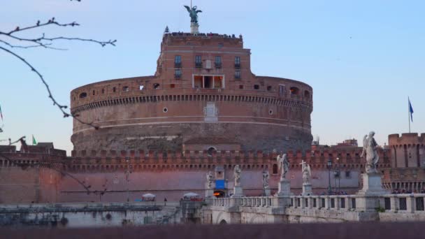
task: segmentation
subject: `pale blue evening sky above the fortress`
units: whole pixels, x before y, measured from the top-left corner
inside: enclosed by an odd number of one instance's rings
[[[80,27],[45,27],[20,36],[117,39],[116,46],[57,42],[58,48],[17,49],[40,71],[59,103],[101,80],[152,75],[166,26],[190,31],[189,0],[0,0],[0,31],[51,17]],[[376,132],[424,132],[425,1],[194,0],[201,32],[243,34],[256,75],[301,80],[313,87],[312,136],[334,145]],[[0,35],[0,40],[6,40]],[[1,43],[0,43],[1,45]],[[1,45],[4,47],[4,45]],[[0,50],[0,140],[34,135],[70,153],[72,120],[52,106],[41,81]],[[6,142],[0,142],[4,144]]]

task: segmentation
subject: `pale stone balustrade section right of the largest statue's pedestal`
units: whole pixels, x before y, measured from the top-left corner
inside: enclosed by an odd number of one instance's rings
[[[385,212],[425,212],[425,194],[387,194],[381,196]]]

